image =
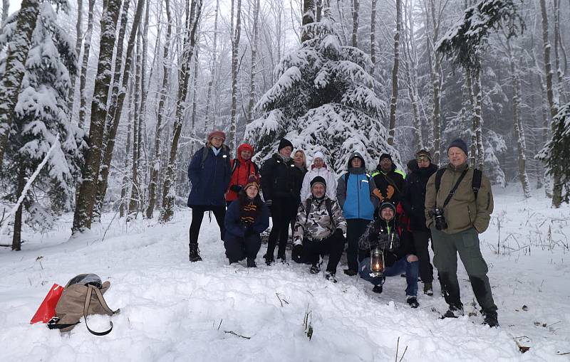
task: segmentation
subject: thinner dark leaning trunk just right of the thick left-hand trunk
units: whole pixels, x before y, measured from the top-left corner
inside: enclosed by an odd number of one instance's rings
[[[111,102],[110,110],[108,112],[109,113],[108,129],[106,135],[107,143],[105,144],[105,150],[103,153],[103,162],[100,167],[99,181],[97,183],[97,196],[95,202],[96,213],[102,210],[103,201],[105,201],[105,194],[107,193],[110,165],[111,161],[113,160],[113,151],[115,149],[115,138],[117,137],[117,129],[119,127],[121,115],[123,114],[123,105],[125,103],[125,95],[131,73],[130,69],[133,65],[133,49],[135,48],[136,36],[138,34],[138,28],[139,28],[140,18],[142,17],[142,9],[144,7],[144,4],[145,0],[139,0],[137,2],[137,8],[135,10],[135,18],[133,19],[133,26],[130,29],[129,40],[127,43],[125,69],[123,70],[123,84],[120,87],[119,87],[120,83],[116,83],[114,85],[117,87],[118,94],[116,95],[117,98],[116,102],[114,104],[113,102]],[[121,43],[121,48],[123,48],[123,41],[120,41],[120,43]],[[123,55],[122,50],[120,51],[120,55],[121,56]],[[120,63],[119,64],[115,63],[115,70],[117,70],[117,68],[120,70]],[[115,72],[115,80],[119,82],[119,79],[120,79],[120,71],[118,74]]]

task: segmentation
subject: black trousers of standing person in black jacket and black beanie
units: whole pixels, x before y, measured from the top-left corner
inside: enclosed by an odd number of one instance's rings
[[[285,248],[287,246],[287,238],[289,238],[289,223],[295,217],[297,212],[296,200],[292,198],[278,198],[273,200],[271,206],[271,233],[269,233],[269,240],[267,241],[267,254],[269,259],[273,259],[275,246],[279,241],[279,250],[277,257],[285,260]]]

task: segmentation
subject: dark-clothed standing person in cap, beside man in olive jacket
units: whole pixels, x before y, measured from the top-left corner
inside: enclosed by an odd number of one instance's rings
[[[427,180],[437,171],[437,165],[432,164],[429,151],[422,149],[415,154],[416,166],[411,167],[411,173],[406,179],[404,190],[400,195],[400,204],[410,219],[410,230],[415,251],[420,259],[420,278],[423,282],[423,292],[433,295],[433,267],[430,263],[430,229],[425,226],[425,186]]]

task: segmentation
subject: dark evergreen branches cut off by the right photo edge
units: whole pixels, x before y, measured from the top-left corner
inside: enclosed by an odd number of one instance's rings
[[[547,173],[559,176],[561,201],[570,201],[570,102],[562,106],[552,119],[552,139],[544,145],[537,158],[546,164]],[[556,179],[555,179],[556,180]],[[554,207],[559,207],[554,205]]]

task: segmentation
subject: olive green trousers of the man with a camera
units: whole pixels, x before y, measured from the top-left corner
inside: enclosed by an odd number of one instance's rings
[[[483,312],[496,312],[497,306],[493,302],[491,285],[487,277],[489,269],[481,255],[479,235],[475,228],[455,234],[443,233],[435,228],[431,230],[435,248],[433,263],[439,270],[442,286],[445,287],[445,302],[457,308],[463,306],[457,281],[457,252],[459,252],[469,275],[473,293]]]

